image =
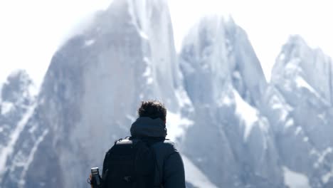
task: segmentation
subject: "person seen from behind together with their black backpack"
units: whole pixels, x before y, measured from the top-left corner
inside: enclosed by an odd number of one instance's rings
[[[142,101],[131,137],[117,140],[106,153],[102,185],[93,188],[185,188],[181,155],[166,139],[166,108],[157,100]],[[91,180],[91,174],[90,174]]]

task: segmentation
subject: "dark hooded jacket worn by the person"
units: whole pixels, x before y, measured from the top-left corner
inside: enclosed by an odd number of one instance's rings
[[[164,188],[185,188],[184,164],[174,143],[165,140],[166,127],[163,120],[139,117],[132,124],[131,135],[152,143],[157,160],[155,187],[162,184]]]

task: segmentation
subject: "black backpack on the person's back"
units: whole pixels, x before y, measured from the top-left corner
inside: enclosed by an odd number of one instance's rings
[[[154,187],[157,162],[152,145],[154,142],[144,142],[139,138],[117,140],[105,155],[102,187]]]

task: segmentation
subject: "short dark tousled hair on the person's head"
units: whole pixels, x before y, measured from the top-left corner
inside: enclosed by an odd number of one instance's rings
[[[158,100],[142,101],[137,113],[139,117],[161,118],[166,121],[166,108]]]

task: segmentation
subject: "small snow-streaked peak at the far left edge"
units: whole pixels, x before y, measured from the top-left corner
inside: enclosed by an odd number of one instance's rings
[[[36,110],[35,90],[26,71],[11,73],[1,88],[0,187],[24,184],[33,155],[47,134],[28,123]]]

